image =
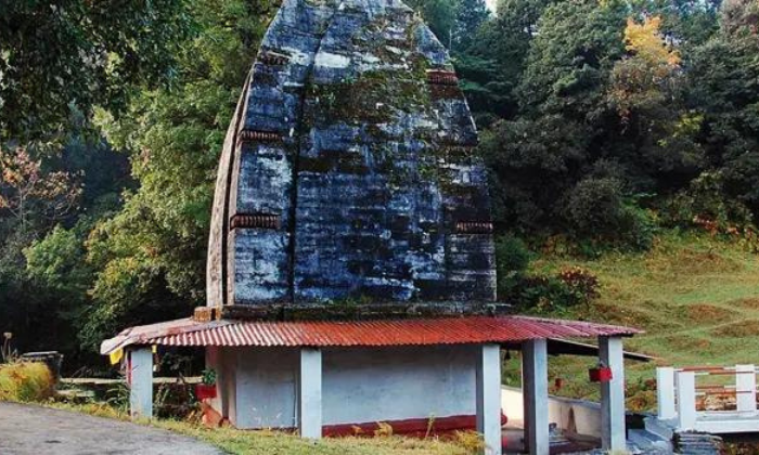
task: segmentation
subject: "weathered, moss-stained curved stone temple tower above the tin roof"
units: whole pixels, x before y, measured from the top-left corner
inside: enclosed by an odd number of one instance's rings
[[[496,300],[486,172],[445,48],[398,0],[285,0],[224,143],[208,304]]]

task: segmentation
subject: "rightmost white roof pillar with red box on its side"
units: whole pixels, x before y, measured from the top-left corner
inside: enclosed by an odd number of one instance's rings
[[[601,362],[612,368],[612,380],[601,382],[601,444],[606,451],[625,452],[625,355],[620,337],[599,337]]]

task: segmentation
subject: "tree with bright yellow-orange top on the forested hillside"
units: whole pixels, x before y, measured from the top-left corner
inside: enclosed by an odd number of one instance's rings
[[[646,191],[664,194],[696,177],[704,154],[691,134],[699,117],[683,105],[680,52],[660,26],[659,16],[640,23],[628,18],[627,54],[614,65],[607,98],[621,119],[621,139],[635,148],[633,156],[620,159],[653,182]]]

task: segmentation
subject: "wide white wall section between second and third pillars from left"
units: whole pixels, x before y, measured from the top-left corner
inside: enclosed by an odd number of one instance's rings
[[[324,424],[474,415],[475,360],[471,347],[326,351]]]

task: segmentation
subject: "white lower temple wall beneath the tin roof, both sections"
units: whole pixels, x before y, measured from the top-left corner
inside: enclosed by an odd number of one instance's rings
[[[236,359],[237,428],[297,426],[298,350],[230,348]],[[330,349],[323,351],[323,424],[474,415],[474,347]],[[224,362],[223,378],[235,362]],[[235,387],[236,386],[236,387]],[[236,414],[236,415],[234,415]]]

